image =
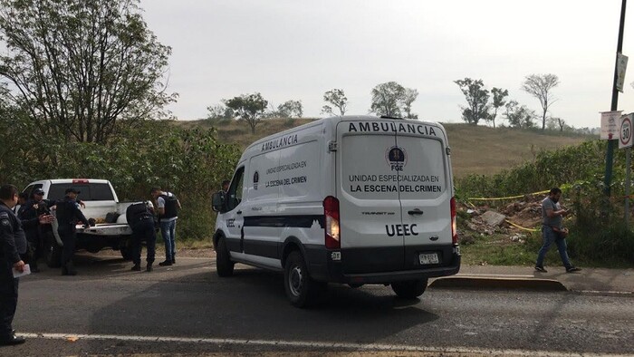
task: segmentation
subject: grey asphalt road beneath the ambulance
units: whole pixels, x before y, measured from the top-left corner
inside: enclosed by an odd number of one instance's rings
[[[77,265],[77,276],[21,280],[14,328],[28,341],[0,355],[634,352],[631,295],[430,288],[402,300],[382,285],[331,285],[301,310],[282,275],[245,265],[230,278],[206,258],[152,273],[117,257]]]

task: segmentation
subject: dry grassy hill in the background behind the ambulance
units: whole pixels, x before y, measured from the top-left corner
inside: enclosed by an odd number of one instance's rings
[[[177,121],[187,129],[215,127],[218,139],[234,142],[245,148],[250,143],[278,131],[293,128],[311,119],[273,119],[261,121],[251,134],[242,121],[203,120]],[[490,128],[470,124],[443,124],[449,136],[451,160],[456,178],[466,174],[495,174],[526,160],[534,159],[541,150],[554,150],[596,139],[593,136],[558,131]]]

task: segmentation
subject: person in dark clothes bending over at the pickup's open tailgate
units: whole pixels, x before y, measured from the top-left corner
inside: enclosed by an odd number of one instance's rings
[[[146,246],[148,246],[148,256],[146,257],[148,265],[146,265],[145,270],[151,272],[157,244],[154,215],[146,202],[137,202],[126,209],[126,219],[132,228],[132,263],[134,266],[131,270],[136,272],[141,270],[141,241],[145,240]]]

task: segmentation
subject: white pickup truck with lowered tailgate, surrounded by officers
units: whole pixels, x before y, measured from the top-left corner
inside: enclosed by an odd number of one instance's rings
[[[43,179],[30,183],[24,188],[24,192],[31,197],[35,188],[42,188],[44,199],[53,203],[64,197],[66,188],[81,191],[77,198],[85,205],[81,208],[83,215],[89,220],[95,219],[98,223],[91,227],[77,226],[77,250],[85,249],[97,253],[103,248],[112,248],[119,250],[124,259],[131,258],[132,230],[128,226],[125,213],[126,208],[133,202],[119,202],[110,181],[93,178]],[[57,225],[53,224],[53,227]],[[59,267],[63,244],[57,229],[52,231],[53,234],[47,234],[43,242],[46,264]]]

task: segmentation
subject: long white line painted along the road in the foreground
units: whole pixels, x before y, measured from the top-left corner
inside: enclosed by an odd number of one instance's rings
[[[283,341],[283,340],[246,340],[226,338],[192,338],[170,336],[134,336],[118,334],[85,334],[85,333],[18,333],[26,338],[43,338],[48,340],[115,340],[140,343],[213,343],[233,345],[257,345],[274,347],[300,347],[303,349],[328,349],[328,350],[353,350],[367,352],[431,352],[431,353],[456,353],[456,354],[494,354],[514,356],[548,356],[548,357],[587,357],[587,356],[628,356],[627,354],[606,354],[587,352],[553,352],[553,351],[523,351],[523,350],[499,350],[468,347],[429,347],[413,346],[407,344],[381,344],[381,343],[335,343],[335,342],[311,342],[311,341]],[[631,356],[631,355],[629,355]]]

